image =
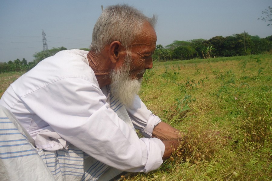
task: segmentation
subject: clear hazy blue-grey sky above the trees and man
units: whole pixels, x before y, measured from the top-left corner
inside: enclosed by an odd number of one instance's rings
[[[48,49],[89,48],[101,5],[118,3],[149,17],[156,14],[157,44],[163,46],[244,31],[261,38],[272,35],[272,28],[258,20],[271,0],[0,0],[0,62],[33,61],[33,54],[43,50],[42,30]]]

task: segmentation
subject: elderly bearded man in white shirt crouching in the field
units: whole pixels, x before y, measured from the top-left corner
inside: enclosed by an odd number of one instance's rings
[[[177,148],[180,131],[137,96],[153,65],[155,22],[128,5],[110,6],[95,24],[89,52],[66,50],[44,59],[2,96],[0,104],[34,139],[56,179],[148,173]]]

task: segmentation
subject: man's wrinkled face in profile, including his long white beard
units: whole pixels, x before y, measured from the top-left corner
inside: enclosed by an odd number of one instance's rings
[[[131,106],[141,88],[146,69],[152,68],[152,54],[157,36],[149,23],[145,23],[141,35],[131,44],[121,67],[110,74],[111,92],[126,106]]]

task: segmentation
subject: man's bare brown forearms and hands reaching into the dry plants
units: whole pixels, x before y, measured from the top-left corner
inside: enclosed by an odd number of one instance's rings
[[[180,132],[180,130],[173,128],[165,122],[160,122],[154,127],[152,137],[158,138],[164,143],[163,160],[170,158],[172,153],[177,150],[180,142],[187,138],[183,132]]]

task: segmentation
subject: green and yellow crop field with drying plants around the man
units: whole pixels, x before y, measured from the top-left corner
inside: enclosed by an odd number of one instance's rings
[[[188,140],[126,180],[271,180],[271,65],[270,54],[154,62],[140,97]],[[0,74],[0,96],[20,75]]]

